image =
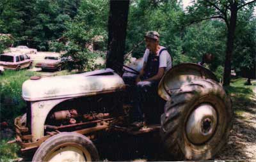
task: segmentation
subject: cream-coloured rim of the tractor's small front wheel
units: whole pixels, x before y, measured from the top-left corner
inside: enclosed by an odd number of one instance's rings
[[[90,153],[77,144],[64,144],[55,147],[44,158],[44,161],[92,161]]]

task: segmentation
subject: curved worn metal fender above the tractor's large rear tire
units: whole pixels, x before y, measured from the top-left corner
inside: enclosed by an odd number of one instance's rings
[[[200,78],[218,82],[214,73],[204,66],[194,63],[178,64],[164,74],[158,85],[158,94],[164,100],[170,101],[173,91],[180,90],[182,85]]]

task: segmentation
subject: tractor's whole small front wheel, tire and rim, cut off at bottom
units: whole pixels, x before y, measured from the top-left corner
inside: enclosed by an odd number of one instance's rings
[[[65,132],[40,145],[32,161],[99,161],[99,154],[86,136]]]

